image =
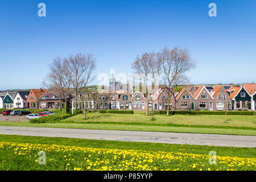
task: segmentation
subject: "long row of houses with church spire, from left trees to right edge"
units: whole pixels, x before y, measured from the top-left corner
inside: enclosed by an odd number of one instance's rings
[[[108,90],[98,93],[98,103],[91,100],[88,109],[146,110],[146,96],[142,92],[131,92],[129,86],[110,78]],[[118,86],[117,86],[118,85]],[[149,98],[150,110],[167,110],[168,92],[171,95],[170,110],[256,110],[256,84],[232,86],[192,86],[184,87],[179,93],[172,89],[159,88]],[[72,100],[72,110],[75,100]],[[94,103],[94,104],[93,104]],[[81,105],[81,103],[80,103]],[[80,108],[82,106],[79,106]]]

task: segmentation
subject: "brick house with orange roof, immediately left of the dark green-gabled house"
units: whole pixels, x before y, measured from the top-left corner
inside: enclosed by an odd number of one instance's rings
[[[214,98],[214,105],[216,106],[214,110],[232,110],[231,98],[223,86],[215,86],[210,94]]]

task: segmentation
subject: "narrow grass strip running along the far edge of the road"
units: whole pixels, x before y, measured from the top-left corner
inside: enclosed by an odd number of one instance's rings
[[[55,127],[67,129],[97,129],[97,130],[127,130],[127,131],[162,131],[177,133],[206,133],[206,134],[229,134],[229,135],[254,135],[256,130],[241,129],[215,129],[202,127],[172,127],[172,126],[142,126],[142,125],[116,125],[97,123],[29,123],[0,121],[0,126],[21,127]]]

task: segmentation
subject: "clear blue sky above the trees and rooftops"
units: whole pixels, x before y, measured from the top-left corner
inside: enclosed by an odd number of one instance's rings
[[[40,2],[46,17],[38,16]],[[210,2],[217,17],[208,16]],[[164,46],[191,51],[193,84],[255,82],[255,7],[255,0],[0,0],[0,90],[38,88],[57,55],[92,53],[96,75],[128,74],[138,54]]]

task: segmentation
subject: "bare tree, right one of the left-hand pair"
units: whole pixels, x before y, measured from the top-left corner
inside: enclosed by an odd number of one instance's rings
[[[77,110],[77,96],[94,80],[92,73],[96,69],[96,59],[92,54],[78,53],[65,59],[65,64],[69,70],[68,77],[75,92],[75,109]]]

